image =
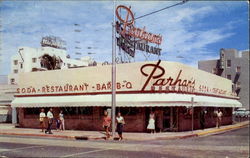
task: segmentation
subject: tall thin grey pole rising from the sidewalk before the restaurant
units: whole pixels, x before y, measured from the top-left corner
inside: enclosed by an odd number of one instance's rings
[[[115,1],[113,2],[112,22],[112,137],[115,136],[115,107],[116,107],[116,39],[115,39]]]

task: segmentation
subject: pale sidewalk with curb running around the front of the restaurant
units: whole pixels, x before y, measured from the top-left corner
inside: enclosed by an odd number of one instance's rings
[[[207,128],[204,130],[195,130],[187,132],[163,132],[163,133],[130,133],[124,132],[123,137],[125,140],[163,140],[163,139],[182,139],[188,137],[197,137],[218,134],[249,125],[249,121],[240,122],[233,125],[222,126],[221,128]],[[104,140],[104,131],[56,131],[52,130],[53,134],[45,134],[40,129],[33,128],[16,128],[12,124],[0,124],[0,135],[16,135],[16,136],[39,136],[50,138],[66,138],[66,139],[83,139],[83,140]],[[117,137],[117,134],[116,134]],[[116,138],[115,137],[115,138]]]

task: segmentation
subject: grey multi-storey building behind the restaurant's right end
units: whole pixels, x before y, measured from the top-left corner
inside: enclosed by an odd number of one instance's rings
[[[221,49],[220,59],[198,62],[198,68],[232,81],[232,90],[249,109],[249,50]]]

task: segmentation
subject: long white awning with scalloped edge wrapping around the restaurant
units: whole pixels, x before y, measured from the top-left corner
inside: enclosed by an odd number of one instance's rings
[[[164,107],[164,106],[193,106],[212,107],[241,107],[241,103],[234,99],[218,97],[196,96],[175,93],[155,94],[117,94],[117,107]],[[75,96],[40,96],[16,97],[12,107],[86,107],[111,106],[111,95],[75,95]]]

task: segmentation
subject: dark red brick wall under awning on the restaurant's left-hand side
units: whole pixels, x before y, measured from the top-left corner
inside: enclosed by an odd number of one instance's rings
[[[53,108],[54,117],[58,116],[59,108]],[[102,127],[102,108],[94,107],[93,115],[65,115],[65,129],[101,131]],[[123,116],[125,119],[124,131],[143,132],[145,131],[145,109],[141,108],[137,115]],[[19,109],[19,125],[24,128],[39,128],[39,115],[24,115],[24,109]],[[47,121],[46,121],[47,125]],[[54,121],[53,129],[56,128]]]

